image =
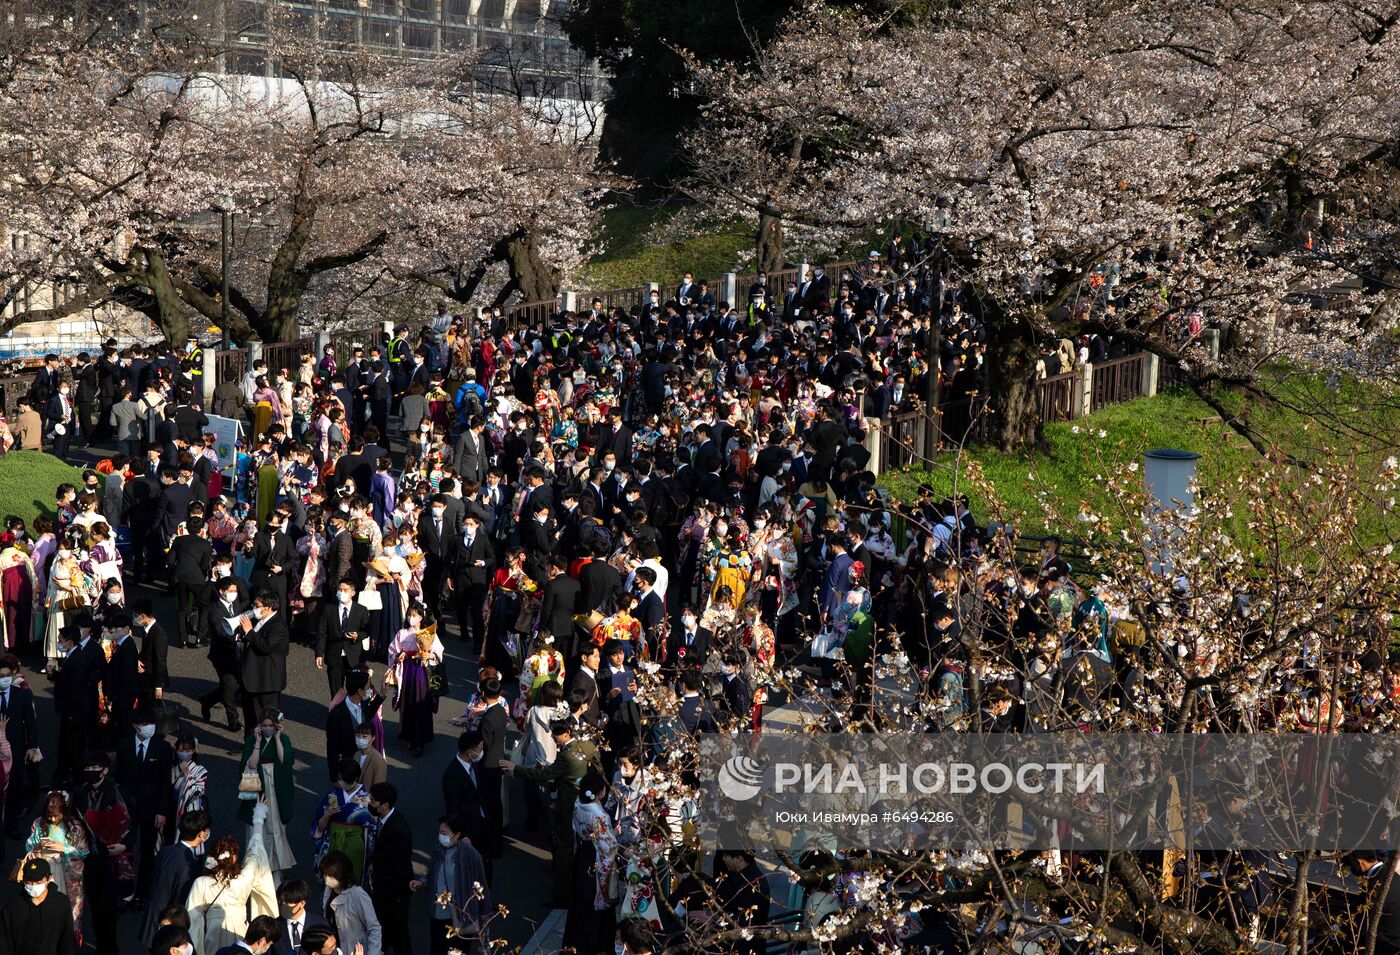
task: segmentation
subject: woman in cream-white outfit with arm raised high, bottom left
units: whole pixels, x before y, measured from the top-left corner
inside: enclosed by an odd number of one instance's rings
[[[269,812],[266,800],[259,798],[252,808],[246,858],[239,857],[232,836],[220,836],[209,847],[204,864],[211,868],[195,879],[185,900],[195,955],[234,948],[252,919],[277,914],[277,889],[263,846],[262,823]]]

